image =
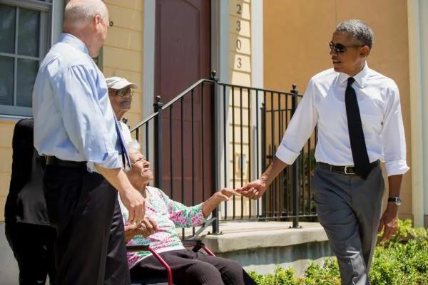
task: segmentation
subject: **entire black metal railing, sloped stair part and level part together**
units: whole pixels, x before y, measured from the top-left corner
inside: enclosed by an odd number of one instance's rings
[[[272,161],[302,96],[290,92],[220,83],[212,74],[170,102],[156,97],[154,113],[136,125],[143,152],[153,159],[154,185],[184,204],[197,204],[221,187],[241,187]],[[301,155],[272,182],[263,199],[233,197],[213,212],[220,221],[292,220],[315,217],[310,177],[315,135]],[[199,231],[193,229],[193,234]],[[183,229],[184,237],[184,229]]]

